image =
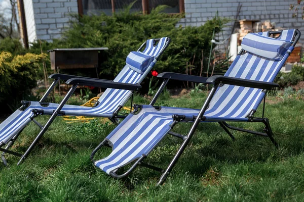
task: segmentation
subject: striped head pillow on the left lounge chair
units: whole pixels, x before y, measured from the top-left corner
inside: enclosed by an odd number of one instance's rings
[[[153,60],[154,56],[149,56],[141,52],[132,51],[129,53],[126,59],[126,63],[127,66],[132,70],[143,74]]]

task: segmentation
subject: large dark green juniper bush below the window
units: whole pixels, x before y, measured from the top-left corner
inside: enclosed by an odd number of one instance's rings
[[[148,38],[169,36],[170,46],[156,65],[158,72],[173,71],[185,73],[186,63],[192,63],[192,74],[198,75],[201,69],[202,51],[204,66],[207,67],[213,29],[218,33],[228,21],[215,17],[200,27],[176,27],[180,15],[168,15],[159,6],[149,15],[130,12],[132,4],[123,12],[113,16],[74,16],[70,29],[62,39],[54,40],[47,48],[71,47],[108,47],[99,70],[101,77],[113,78],[124,67],[129,52],[137,50]],[[31,52],[40,53],[40,46],[33,44]],[[86,71],[87,73],[87,71]]]

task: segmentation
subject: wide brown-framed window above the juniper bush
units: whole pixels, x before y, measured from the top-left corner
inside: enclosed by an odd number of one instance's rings
[[[113,12],[119,12],[134,0],[78,0],[78,10],[80,15],[98,15],[104,12],[106,15],[112,15]],[[143,12],[148,14],[153,8],[159,5],[167,5],[170,8],[165,9],[165,13],[183,13],[184,0],[137,0],[132,12]]]

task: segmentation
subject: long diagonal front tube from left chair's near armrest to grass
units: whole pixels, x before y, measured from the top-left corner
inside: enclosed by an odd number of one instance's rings
[[[52,124],[54,119],[58,116],[59,112],[67,102],[67,100],[70,98],[70,96],[73,94],[75,89],[77,88],[78,85],[72,85],[72,87],[69,89],[65,97],[62,99],[61,103],[59,104],[58,108],[55,110],[55,112],[52,114],[51,118],[48,120],[46,125],[43,127],[43,129],[40,131],[40,133],[36,136],[34,141],[30,144],[28,149],[25,151],[25,153],[22,155],[21,159],[19,160],[17,165],[20,165],[26,157],[29,155],[31,150],[34,148],[34,146],[37,144],[37,142],[40,140],[40,138],[44,135],[44,133],[48,130],[49,126]]]

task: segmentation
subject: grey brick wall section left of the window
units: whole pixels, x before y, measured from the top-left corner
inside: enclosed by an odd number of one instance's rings
[[[78,13],[77,0],[25,1],[32,2],[34,15],[34,26],[29,30],[27,25],[27,32],[30,33],[32,29],[35,29],[36,37],[28,37],[29,42],[37,39],[52,41],[54,38],[60,38],[63,29],[69,27],[70,14]],[[26,23],[28,23],[27,19]],[[32,25],[32,22],[30,24]]]

